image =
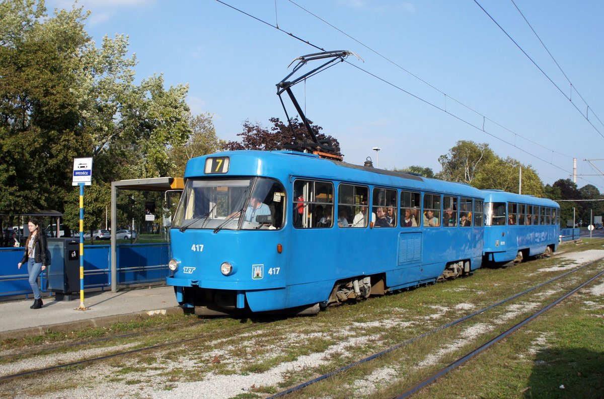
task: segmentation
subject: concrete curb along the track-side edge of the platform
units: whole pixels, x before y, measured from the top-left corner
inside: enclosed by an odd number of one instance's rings
[[[113,314],[92,319],[69,321],[59,324],[39,325],[36,327],[19,328],[18,330],[0,331],[0,340],[23,339],[25,337],[43,336],[48,333],[68,333],[70,331],[84,330],[85,328],[108,327],[117,322],[129,322],[137,318],[146,319],[165,314],[182,314],[184,309],[175,306],[156,310],[135,311],[132,313]]]

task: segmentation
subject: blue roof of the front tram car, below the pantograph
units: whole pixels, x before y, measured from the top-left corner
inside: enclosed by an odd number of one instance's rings
[[[467,184],[429,179],[414,173],[383,170],[347,162],[322,159],[318,155],[293,151],[236,150],[193,158],[185,168],[185,179],[204,175],[205,160],[228,157],[229,170],[209,176],[268,176],[286,181],[289,177],[328,179],[341,182],[405,187],[436,193],[483,198],[481,190]]]

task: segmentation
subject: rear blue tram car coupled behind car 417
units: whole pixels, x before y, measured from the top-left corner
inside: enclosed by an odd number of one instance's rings
[[[484,261],[518,263],[556,251],[560,236],[560,206],[550,200],[483,190]]]

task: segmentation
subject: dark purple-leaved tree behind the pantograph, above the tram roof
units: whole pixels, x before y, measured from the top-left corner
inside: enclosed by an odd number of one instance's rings
[[[308,132],[304,123],[298,121],[298,118],[292,118],[291,124],[286,125],[279,118],[270,118],[273,124],[270,129],[261,126],[259,123],[252,124],[249,121],[243,123],[243,132],[237,136],[242,137],[241,141],[226,142],[225,150],[281,150],[292,145],[300,145],[301,142],[309,142]],[[312,125],[318,140],[327,140],[336,154],[340,153],[340,146],[337,139],[329,135],[320,133],[322,127]],[[291,126],[291,127],[290,127]],[[292,132],[293,129],[293,132]]]

